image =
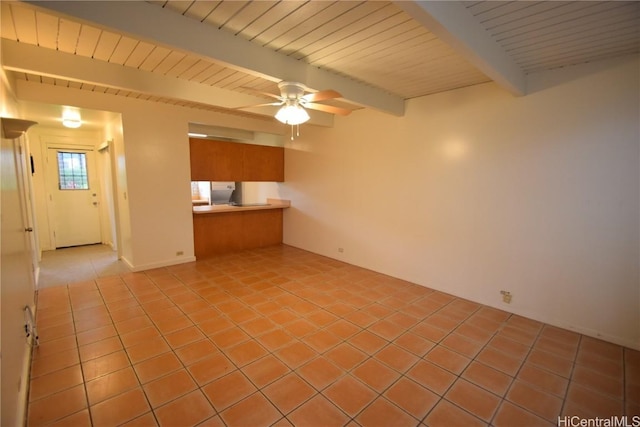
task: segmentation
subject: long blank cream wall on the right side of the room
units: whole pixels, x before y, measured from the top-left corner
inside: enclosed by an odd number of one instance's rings
[[[627,58],[302,126],[285,242],[640,348],[638,76]]]

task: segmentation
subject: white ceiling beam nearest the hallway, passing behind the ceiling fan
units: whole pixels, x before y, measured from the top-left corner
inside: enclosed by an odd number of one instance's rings
[[[9,71],[112,87],[222,108],[262,104],[265,101],[263,98],[227,89],[192,83],[8,39],[2,39],[1,47],[2,67]],[[273,116],[273,111],[269,108],[243,108],[242,111]],[[333,116],[314,112],[309,123],[332,126]]]

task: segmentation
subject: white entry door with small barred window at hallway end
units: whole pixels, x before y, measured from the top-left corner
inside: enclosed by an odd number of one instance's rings
[[[56,248],[101,242],[93,150],[49,147],[50,219]]]

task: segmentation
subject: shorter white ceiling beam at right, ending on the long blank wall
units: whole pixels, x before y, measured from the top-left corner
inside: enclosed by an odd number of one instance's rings
[[[526,76],[459,1],[396,0],[413,19],[514,95],[526,94]]]

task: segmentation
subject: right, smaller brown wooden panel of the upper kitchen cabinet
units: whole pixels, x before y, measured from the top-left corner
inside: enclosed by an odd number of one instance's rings
[[[243,181],[284,181],[284,148],[244,144]]]

